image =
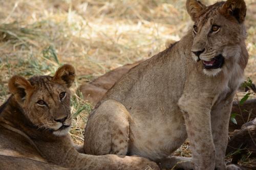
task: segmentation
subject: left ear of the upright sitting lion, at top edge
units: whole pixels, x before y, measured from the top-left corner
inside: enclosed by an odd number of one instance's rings
[[[201,15],[201,11],[206,8],[200,1],[197,0],[187,0],[186,9],[191,19],[195,22]]]

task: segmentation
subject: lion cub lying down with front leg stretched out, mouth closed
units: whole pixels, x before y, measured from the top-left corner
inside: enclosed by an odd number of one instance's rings
[[[63,65],[54,77],[10,79],[12,95],[0,107],[0,169],[158,169],[145,158],[75,150],[68,134],[74,78],[74,67]]]

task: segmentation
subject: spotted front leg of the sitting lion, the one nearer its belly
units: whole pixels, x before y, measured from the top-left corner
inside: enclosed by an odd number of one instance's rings
[[[191,142],[194,170],[215,169],[215,145],[211,134],[210,109],[212,98],[207,94],[183,94],[178,105],[183,111],[188,139]]]

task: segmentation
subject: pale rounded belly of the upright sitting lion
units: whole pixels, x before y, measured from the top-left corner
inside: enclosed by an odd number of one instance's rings
[[[130,155],[159,160],[177,150],[187,137],[184,119],[179,110],[152,119],[141,118],[135,116],[130,125]]]

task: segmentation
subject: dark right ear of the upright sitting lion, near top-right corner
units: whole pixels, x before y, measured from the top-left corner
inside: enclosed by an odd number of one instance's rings
[[[242,23],[246,15],[246,4],[243,0],[228,0],[221,8],[221,14],[226,17],[233,16]]]

